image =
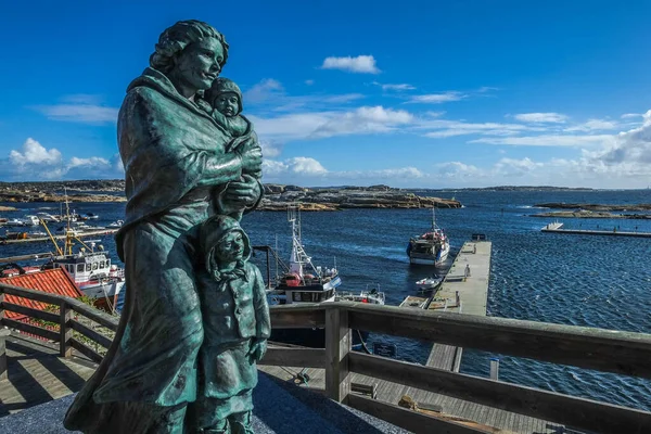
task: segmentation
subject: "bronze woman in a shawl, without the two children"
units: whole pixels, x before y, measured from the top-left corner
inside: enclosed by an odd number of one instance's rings
[[[258,181],[242,177],[259,170],[259,146],[226,152],[233,138],[201,100],[227,58],[219,31],[179,22],[127,89],[117,129],[128,202],[116,235],[127,296],[113,345],[68,409],[68,430],[183,433],[193,425],[186,410],[196,400],[204,337],[199,228],[215,214],[214,189],[243,210],[261,195]]]

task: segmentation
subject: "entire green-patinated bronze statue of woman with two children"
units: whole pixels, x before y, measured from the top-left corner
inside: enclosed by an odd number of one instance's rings
[[[240,115],[237,85],[212,89],[228,50],[208,24],[179,22],[127,88],[117,125],[128,200],[116,235],[125,308],[66,414],[68,430],[251,432],[269,316],[238,220],[259,203],[261,151]],[[234,103],[217,101],[230,93]]]

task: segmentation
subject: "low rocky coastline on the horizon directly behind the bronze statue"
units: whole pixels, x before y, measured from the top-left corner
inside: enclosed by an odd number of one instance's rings
[[[126,202],[124,180],[0,182],[0,202]],[[460,208],[455,199],[417,195],[388,186],[305,188],[265,184],[259,210],[284,210],[299,203],[303,210],[346,208]]]

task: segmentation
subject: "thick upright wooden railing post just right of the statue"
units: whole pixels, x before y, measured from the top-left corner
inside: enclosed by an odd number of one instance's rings
[[[326,309],[326,395],[346,404],[350,393],[348,353],[353,335],[348,311],[341,307]]]

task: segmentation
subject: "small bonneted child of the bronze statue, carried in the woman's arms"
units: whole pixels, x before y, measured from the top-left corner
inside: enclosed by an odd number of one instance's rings
[[[218,77],[213,81],[210,89],[204,93],[204,100],[213,107],[212,116],[221,128],[233,137],[228,143],[226,152],[246,152],[250,146],[260,149],[257,136],[253,130],[253,124],[242,113],[242,91],[240,87],[228,78]],[[253,140],[251,138],[253,137]],[[263,176],[261,166],[251,173],[242,174],[243,181],[250,181],[251,178],[260,180]],[[226,214],[238,220],[242,219],[242,210],[229,206],[228,201],[222,197],[226,188],[220,188],[215,192],[215,203],[217,214]]]

